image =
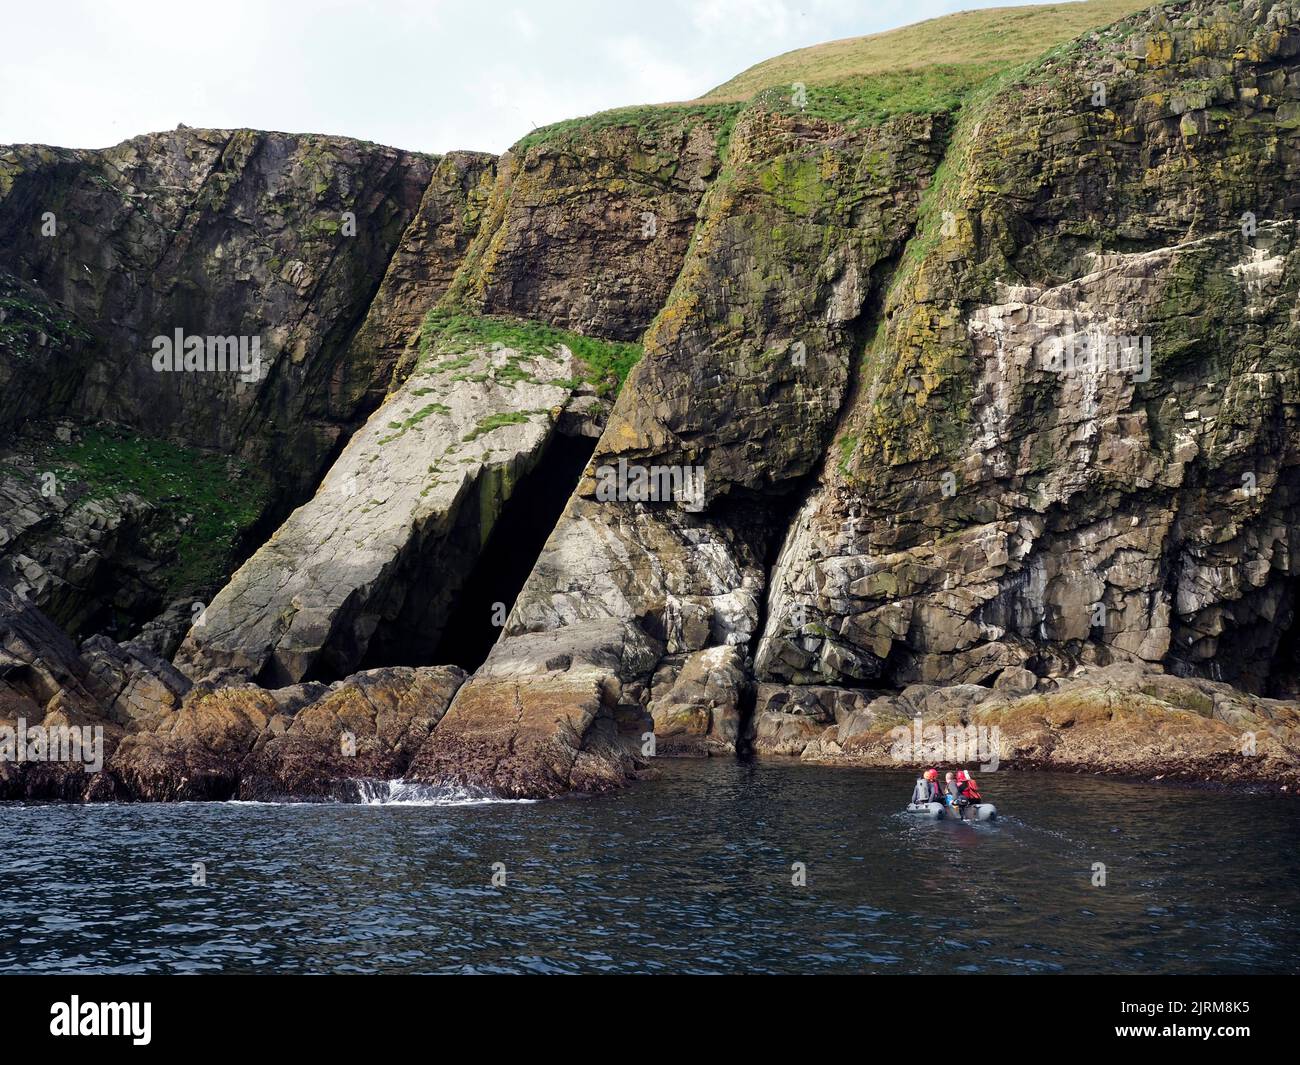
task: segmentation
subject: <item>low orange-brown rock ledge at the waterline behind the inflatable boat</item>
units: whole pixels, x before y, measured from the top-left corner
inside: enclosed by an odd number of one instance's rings
[[[788,722],[792,715],[774,717]],[[1297,728],[1300,703],[1294,701],[1119,663],[1084,667],[1023,696],[979,685],[911,685],[841,715],[783,753],[828,763],[948,762],[1295,787]]]

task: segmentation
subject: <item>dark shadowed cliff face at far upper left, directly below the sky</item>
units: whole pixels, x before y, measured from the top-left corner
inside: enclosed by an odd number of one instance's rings
[[[0,156],[0,268],[92,334],[70,412],[264,462],[296,490],[358,416],[334,388],[434,160],[329,137],[151,134]],[[153,338],[259,337],[256,373],[157,372]],[[254,378],[254,380],[247,380]]]

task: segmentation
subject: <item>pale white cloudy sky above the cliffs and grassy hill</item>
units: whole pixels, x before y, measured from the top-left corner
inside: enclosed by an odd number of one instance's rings
[[[792,48],[997,0],[6,0],[0,144],[252,126],[499,152]]]

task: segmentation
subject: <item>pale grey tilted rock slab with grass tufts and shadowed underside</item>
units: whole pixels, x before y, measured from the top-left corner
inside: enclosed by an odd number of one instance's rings
[[[177,666],[282,687],[344,676],[372,650],[432,653],[458,581],[572,395],[573,362],[563,346],[499,347],[417,368],[217,594]]]

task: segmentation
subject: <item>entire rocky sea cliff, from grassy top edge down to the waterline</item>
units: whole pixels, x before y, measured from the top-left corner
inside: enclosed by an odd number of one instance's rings
[[[0,375],[30,393],[0,427],[36,429],[0,471],[5,709],[117,730],[92,785],[10,791],[547,796],[666,753],[911,761],[898,730],[936,727],[992,731],[982,761],[1294,783],[1297,16],[1165,4],[1014,70],[810,75],[500,160],[0,155]],[[114,235],[40,243],[46,203]],[[266,377],[142,376],[173,317],[264,330]],[[190,514],[91,490],[86,416],[277,455],[256,512],[302,502],[179,670],[165,625],[78,649],[36,611],[159,606]],[[60,447],[72,502],[36,482]],[[571,494],[530,529],[542,485]],[[512,549],[526,580],[489,594]],[[480,664],[448,632],[489,615]]]

